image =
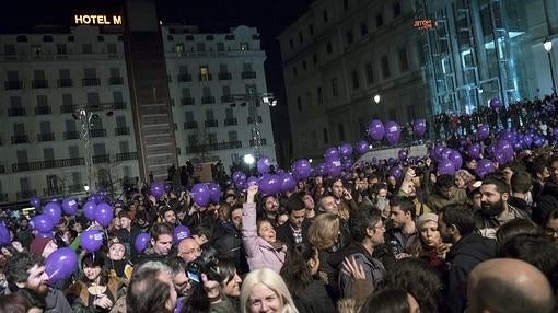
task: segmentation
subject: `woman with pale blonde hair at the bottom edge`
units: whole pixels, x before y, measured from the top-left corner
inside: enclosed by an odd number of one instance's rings
[[[299,313],[287,285],[269,268],[251,271],[242,283],[242,313]]]

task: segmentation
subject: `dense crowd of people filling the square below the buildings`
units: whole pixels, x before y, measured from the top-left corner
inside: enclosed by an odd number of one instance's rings
[[[5,220],[0,313],[558,312],[558,151],[521,148],[490,174],[465,154],[454,175],[404,158],[400,175],[365,163],[280,194],[222,186],[205,206],[144,188],[105,199],[106,228],[81,211],[46,235]],[[102,244],[84,248],[92,229]],[[77,269],[54,280],[45,259],[68,247]]]

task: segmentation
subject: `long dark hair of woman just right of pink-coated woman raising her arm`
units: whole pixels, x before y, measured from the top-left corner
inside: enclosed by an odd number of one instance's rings
[[[289,253],[281,268],[281,277],[295,298],[312,282],[312,274],[307,262],[316,258],[317,250],[311,245],[300,243],[289,248]]]

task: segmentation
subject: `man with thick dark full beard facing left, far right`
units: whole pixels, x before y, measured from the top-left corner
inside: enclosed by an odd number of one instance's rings
[[[508,202],[510,186],[502,179],[488,177],[480,185],[480,210],[475,212],[475,224],[480,234],[496,239],[496,231],[514,219],[531,219],[528,212]]]

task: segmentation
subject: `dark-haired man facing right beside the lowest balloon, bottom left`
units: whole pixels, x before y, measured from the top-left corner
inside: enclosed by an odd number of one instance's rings
[[[30,289],[45,297],[45,313],[73,312],[63,293],[47,286],[43,257],[31,253],[16,253],[5,266],[5,280],[11,292]]]

